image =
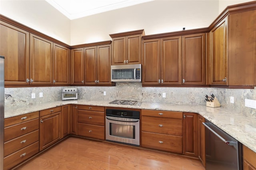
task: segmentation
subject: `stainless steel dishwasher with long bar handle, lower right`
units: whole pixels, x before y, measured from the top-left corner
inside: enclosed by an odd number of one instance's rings
[[[205,128],[206,170],[242,170],[242,144],[208,120]]]

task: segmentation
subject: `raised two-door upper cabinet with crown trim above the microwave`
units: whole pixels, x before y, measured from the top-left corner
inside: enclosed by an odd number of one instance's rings
[[[110,34],[112,65],[140,64],[142,36],[144,36],[144,30]]]

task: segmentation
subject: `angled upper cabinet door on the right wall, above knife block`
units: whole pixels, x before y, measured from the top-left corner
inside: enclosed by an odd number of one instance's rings
[[[210,31],[210,84],[228,85],[227,17]],[[226,77],[226,81],[225,81]]]

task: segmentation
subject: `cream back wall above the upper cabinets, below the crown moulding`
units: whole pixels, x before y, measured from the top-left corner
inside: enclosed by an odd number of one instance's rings
[[[218,0],[155,0],[71,21],[71,45],[111,40],[109,34],[144,29],[146,35],[208,27]]]

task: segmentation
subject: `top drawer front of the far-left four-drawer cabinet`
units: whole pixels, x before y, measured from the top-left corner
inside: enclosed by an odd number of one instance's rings
[[[4,127],[30,121],[39,117],[39,111],[4,119]]]

